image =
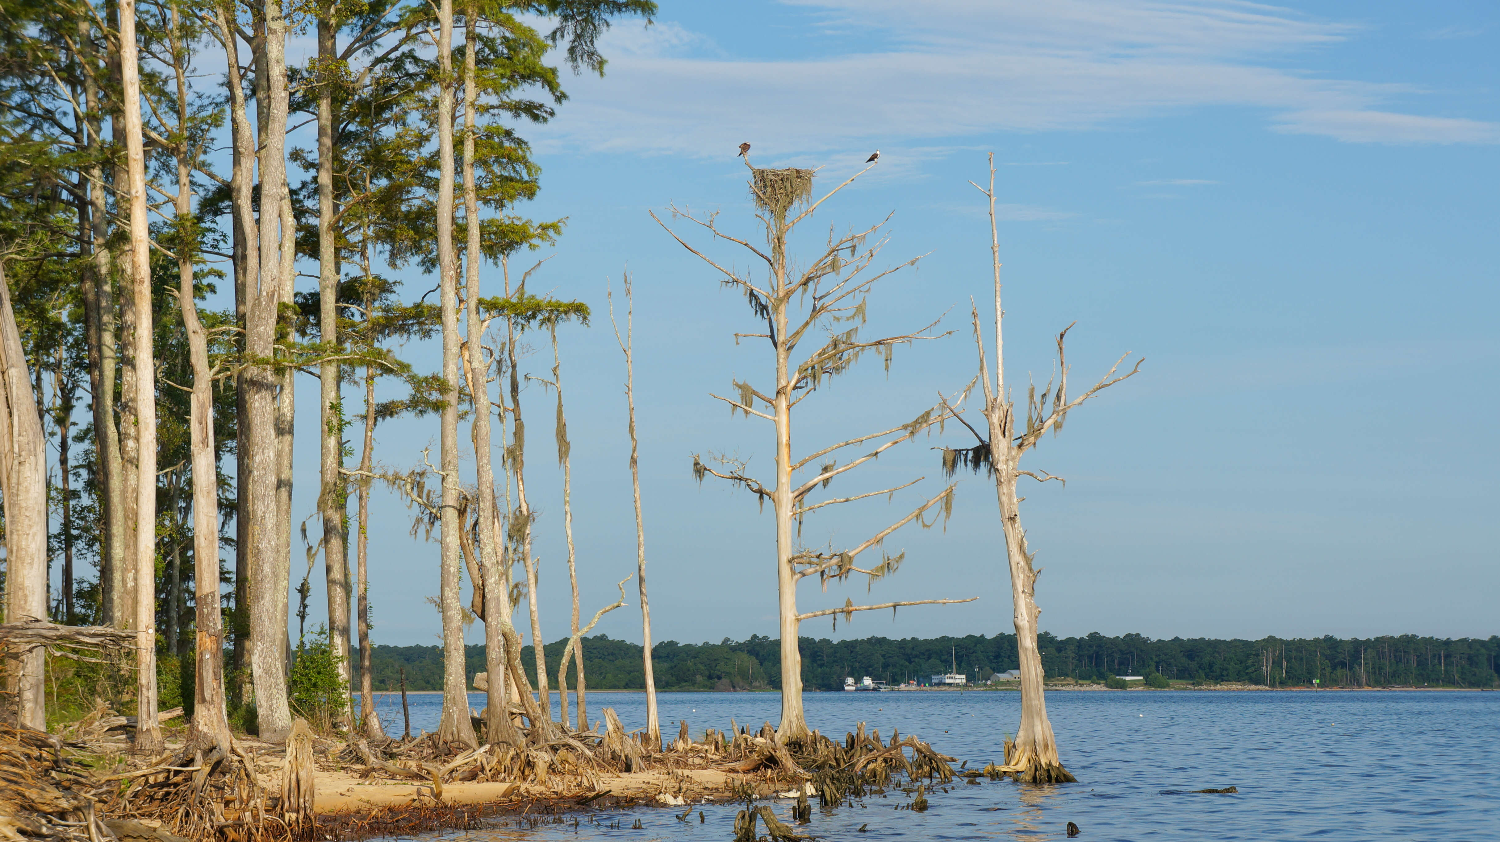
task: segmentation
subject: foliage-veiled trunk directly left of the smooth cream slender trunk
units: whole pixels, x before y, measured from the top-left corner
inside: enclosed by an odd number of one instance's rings
[[[78,24],[78,46],[86,61],[93,57],[93,27],[88,21]],[[84,73],[84,102],[90,114],[99,114],[99,82],[93,73]],[[120,599],[124,595],[120,578],[124,572],[124,505],[120,478],[120,431],[114,424],[114,282],[110,261],[110,213],[105,202],[104,165],[98,163],[104,138],[100,121],[88,121],[88,226],[93,250],[92,271],[84,277],[84,312],[90,316],[88,330],[88,387],[93,396],[94,449],[99,470],[100,505],[104,508],[104,539],[99,550],[99,602],[100,622],[120,626],[123,611]]]

